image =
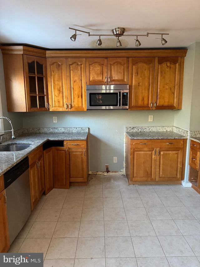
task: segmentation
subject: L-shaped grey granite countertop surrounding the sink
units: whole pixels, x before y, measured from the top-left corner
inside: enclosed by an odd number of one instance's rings
[[[63,133],[27,133],[8,140],[0,145],[0,148],[8,144],[31,144],[30,147],[16,152],[0,152],[0,175],[7,172],[32,151],[48,140],[86,140],[88,132],[63,132]]]

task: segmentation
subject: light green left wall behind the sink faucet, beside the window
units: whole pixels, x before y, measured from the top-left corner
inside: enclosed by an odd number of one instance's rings
[[[23,114],[19,112],[8,112],[7,102],[6,102],[6,88],[4,80],[4,70],[3,70],[3,57],[0,49],[0,90],[1,90],[1,100],[2,100],[2,112],[3,116],[8,117],[12,121],[14,130],[23,127]],[[1,119],[2,120],[2,119]],[[3,120],[4,130],[10,130],[11,126],[7,120]]]

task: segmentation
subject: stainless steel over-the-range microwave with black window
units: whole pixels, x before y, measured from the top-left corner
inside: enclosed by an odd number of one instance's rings
[[[128,109],[128,85],[86,85],[87,110]]]

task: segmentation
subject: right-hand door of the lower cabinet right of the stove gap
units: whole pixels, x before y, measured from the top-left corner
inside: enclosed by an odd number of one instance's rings
[[[183,148],[157,148],[156,181],[179,181],[182,175]]]

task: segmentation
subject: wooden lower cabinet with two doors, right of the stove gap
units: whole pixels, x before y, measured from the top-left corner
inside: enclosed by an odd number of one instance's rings
[[[126,136],[126,176],[129,183],[181,181],[186,144],[186,139],[130,140]]]

